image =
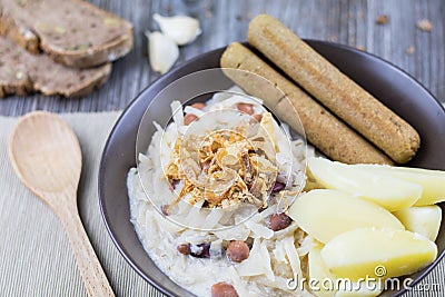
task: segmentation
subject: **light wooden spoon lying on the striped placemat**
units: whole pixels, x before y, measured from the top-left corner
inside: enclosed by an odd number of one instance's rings
[[[88,295],[115,296],[79,217],[82,156],[71,128],[52,113],[28,113],[11,133],[9,158],[24,186],[62,222]]]

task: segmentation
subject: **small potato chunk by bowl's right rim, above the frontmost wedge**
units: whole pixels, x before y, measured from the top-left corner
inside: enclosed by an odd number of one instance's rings
[[[442,221],[442,209],[438,206],[414,206],[397,210],[394,215],[407,230],[436,240]]]

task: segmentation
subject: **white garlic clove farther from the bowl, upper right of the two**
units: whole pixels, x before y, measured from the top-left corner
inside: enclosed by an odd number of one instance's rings
[[[200,33],[199,20],[187,16],[162,17],[154,14],[162,33],[171,38],[178,46],[194,41]]]

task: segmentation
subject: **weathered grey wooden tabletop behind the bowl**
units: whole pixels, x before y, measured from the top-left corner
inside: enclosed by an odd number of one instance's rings
[[[177,65],[202,52],[246,40],[249,20],[269,13],[303,38],[362,48],[414,76],[438,100],[445,100],[445,1],[443,0],[91,0],[135,26],[135,47],[115,62],[110,80],[85,98],[40,95],[0,99],[0,115],[31,110],[55,112],[123,109],[159,75],[150,69],[146,30],[157,30],[152,13],[199,18],[202,34],[180,49]],[[387,16],[386,24],[376,19]],[[431,31],[417,27],[428,20]]]

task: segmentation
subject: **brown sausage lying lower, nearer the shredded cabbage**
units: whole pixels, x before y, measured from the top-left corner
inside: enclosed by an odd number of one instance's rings
[[[246,92],[263,99],[280,119],[298,131],[297,113],[307,140],[329,158],[346,164],[393,164],[386,155],[243,44],[231,43],[222,53],[220,65],[229,68],[224,70],[226,76]],[[249,73],[267,79],[270,85],[265,87],[263,79],[258,80]],[[280,92],[270,86],[276,86]]]

